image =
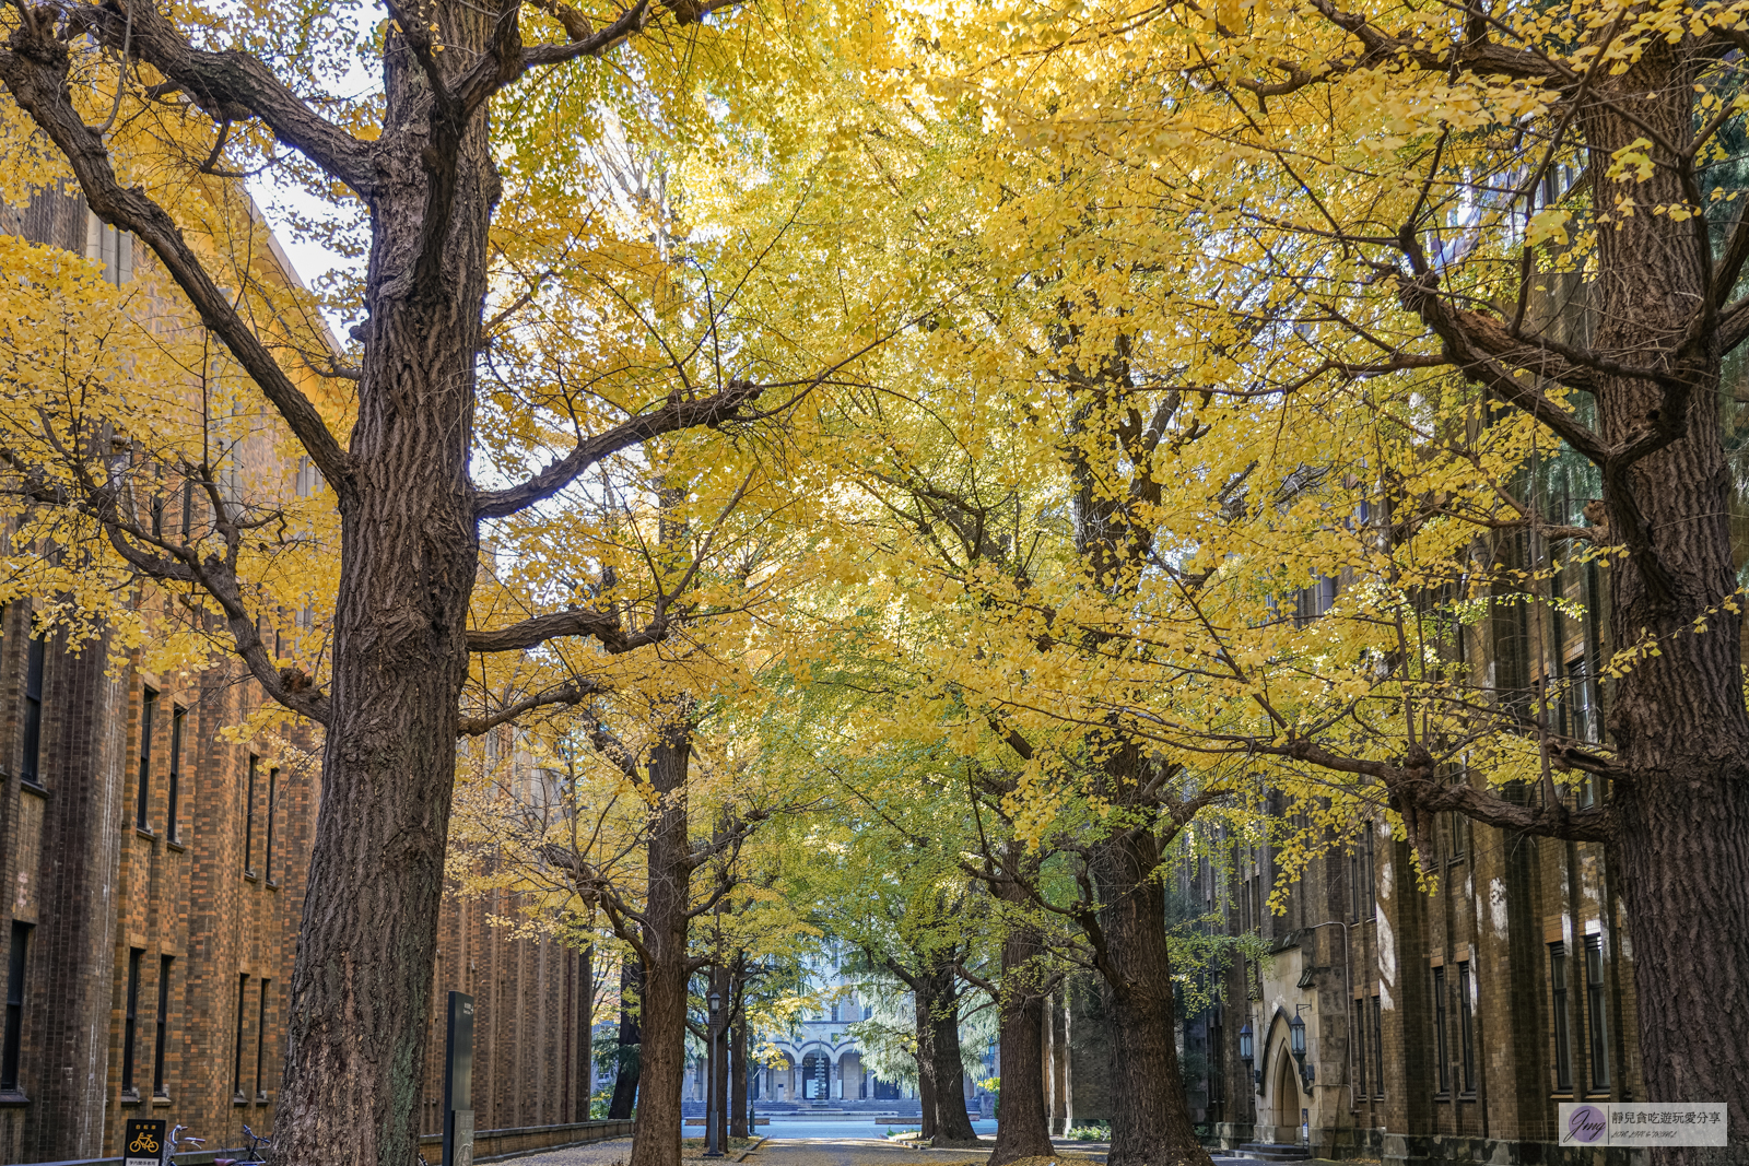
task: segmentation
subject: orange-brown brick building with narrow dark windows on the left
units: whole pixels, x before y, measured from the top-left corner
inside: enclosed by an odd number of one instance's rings
[[[115,283],[152,269],[77,198],[0,205],[0,231],[82,253]],[[257,271],[294,281],[261,239]],[[250,474],[306,488],[271,432],[250,441],[238,453]],[[133,601],[157,628],[198,619],[150,586]],[[290,635],[304,628],[308,615],[287,619]],[[117,1154],[140,1115],[210,1147],[241,1145],[245,1124],[273,1129],[318,750],[296,729],[226,732],[264,698],[222,652],[154,673],[138,650],[112,659],[117,647],[103,633],[68,652],[65,636],[33,635],[28,601],[0,608],[0,1163]],[[442,913],[427,1131],[448,989],[479,1002],[477,1129],[586,1119],[588,965],[495,927],[507,904],[451,895]]]

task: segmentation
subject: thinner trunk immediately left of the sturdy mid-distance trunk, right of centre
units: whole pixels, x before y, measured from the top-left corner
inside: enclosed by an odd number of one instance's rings
[[[1009,876],[995,885],[997,899],[1013,913],[1002,937],[1002,1091],[995,1124],[995,1152],[990,1166],[1006,1166],[1021,1157],[1051,1157],[1051,1115],[1044,1101],[1044,1023],[1046,991],[1039,956],[1044,946],[1039,930],[1027,920],[1027,890],[1020,883],[1023,855],[1018,844],[1004,853]]]

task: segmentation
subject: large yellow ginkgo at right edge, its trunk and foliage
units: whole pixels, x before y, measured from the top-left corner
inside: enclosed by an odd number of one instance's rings
[[[1062,383],[1121,372],[1104,418],[1049,439],[1070,462],[1109,451],[1077,514],[1116,510],[1149,544],[1121,607],[1088,603],[1111,558],[1074,596],[1000,594],[1030,647],[1007,636],[1000,675],[983,649],[965,687],[1006,717],[1116,713],[1165,757],[1244,757],[1308,802],[1389,804],[1422,848],[1453,809],[1602,843],[1634,920],[1649,1096],[1725,1100],[1744,1128],[1749,1063],[1709,1021],[1749,1009],[1739,420],[1721,385],[1749,332],[1742,5],[894,19],[918,56],[888,72],[892,100],[943,124],[971,105],[995,129],[962,171],[1000,224],[992,253],[1034,273],[1060,257],[1051,302],[976,327],[1041,358],[1053,329],[1098,341],[1041,360]],[[1000,362],[1000,339],[967,343]],[[1165,393],[1196,402],[1186,428],[1207,435],[1142,449]],[[1539,488],[1557,460],[1578,489]],[[1165,489],[1137,493],[1137,468]],[[1532,711],[1529,680],[1499,692],[1450,657],[1478,601],[1567,601],[1548,575],[1588,561],[1607,580],[1602,743]],[[1107,650],[1067,684],[1060,645],[1090,631]],[[1147,670],[1170,699],[1119,711],[1114,682]],[[1583,774],[1597,806],[1564,797]],[[1502,794],[1515,783],[1539,792]]]

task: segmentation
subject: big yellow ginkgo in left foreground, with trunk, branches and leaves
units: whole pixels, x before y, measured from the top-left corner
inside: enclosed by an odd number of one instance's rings
[[[581,563],[575,587],[528,593],[514,607],[495,601],[483,617],[470,607],[483,531],[542,521],[563,530],[567,512],[577,521],[577,507],[591,503],[588,474],[605,460],[635,462],[665,434],[749,423],[773,385],[784,386],[771,406],[780,409],[854,358],[771,343],[754,302],[759,288],[736,297],[687,278],[698,276],[698,257],[663,252],[645,222],[628,239],[614,236],[624,203],[609,206],[602,170],[542,184],[533,173],[542,156],[509,149],[511,131],[530,145],[539,101],[554,142],[598,135],[609,110],[633,128],[691,126],[703,117],[691,101],[712,75],[698,66],[714,45],[714,68],[726,73],[743,59],[775,59],[757,14],[729,21],[714,7],[640,0],[586,14],[561,3],[427,0],[390,3],[387,19],[359,24],[352,5],[51,0],[0,16],[0,82],[7,126],[17,131],[9,150],[47,159],[45,180],[66,177],[101,222],[138,239],[171,302],[198,323],[189,343],[222,350],[215,360],[250,413],[269,418],[290,462],[304,458],[318,475],[311,507],[338,516],[329,572],[292,582],[325,601],[332,580],[327,643],[311,670],[276,656],[262,635],[299,605],[257,586],[257,559],[308,544],[280,521],[290,510],[283,491],[240,496],[220,481],[205,418],[156,430],[149,413],[131,413],[133,399],[98,413],[5,411],[9,468],[30,484],[28,521],[38,523],[33,542],[16,544],[31,568],[16,579],[33,579],[44,598],[70,596],[42,614],[124,607],[112,601],[114,587],[80,593],[65,586],[66,572],[54,573],[56,547],[77,545],[93,570],[156,580],[212,612],[266,696],[322,731],[322,809],[278,1094],[276,1143],[287,1159],[413,1159],[456,738],[591,691],[565,675],[470,704],[470,661],[519,657],[563,638],[637,652],[670,635],[684,605],[661,587],[640,593],[644,605],[602,598],[612,580],[591,579]],[[338,58],[343,72],[348,47],[380,70],[380,89],[346,96],[334,66]],[[628,68],[614,72],[602,63],[607,54]],[[540,96],[500,129],[495,110],[509,108],[518,86]],[[654,117],[658,107],[666,121]],[[684,145],[684,136],[668,142]],[[729,154],[733,166],[740,159]],[[357,226],[366,276],[352,288],[357,323],[343,351],[278,336],[278,322],[308,315],[310,301],[248,280],[192,219],[191,187],[266,170]],[[512,219],[526,246],[493,238],[493,215],[512,198],[525,199]],[[600,213],[579,215],[591,203]],[[757,245],[745,233],[717,243],[747,245],[761,259],[782,236],[782,215],[763,226],[770,231]],[[65,290],[52,260],[37,271],[40,280],[9,285],[9,304]],[[740,274],[745,283],[745,267]],[[861,325],[876,322],[880,336],[883,288],[866,290],[873,297],[855,306],[841,288],[827,301],[787,292],[784,306],[803,318],[850,309]],[[82,323],[91,318],[82,313]],[[855,327],[824,330],[838,337]],[[869,343],[864,332],[859,344]],[[112,367],[86,383],[128,385],[133,355],[110,351]],[[523,372],[484,376],[504,362]],[[163,379],[185,383],[185,374]],[[493,430],[481,441],[486,416]],[[129,467],[168,467],[198,495],[199,523],[164,528],[150,517],[149,491],[135,489],[136,474],[108,472],[114,442],[128,449],[131,441],[142,444]],[[481,684],[476,694],[502,694]]]

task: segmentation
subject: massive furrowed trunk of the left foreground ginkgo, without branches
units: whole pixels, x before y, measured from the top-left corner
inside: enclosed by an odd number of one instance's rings
[[[477,52],[484,37],[481,10],[446,5],[456,56]],[[427,84],[392,38],[392,117],[427,119]],[[287,1163],[415,1161],[463,631],[479,570],[469,455],[498,192],[486,117],[430,119],[425,133],[383,142],[394,149],[371,205],[332,713],[275,1121],[275,1154]],[[451,159],[453,196],[434,198],[434,171]]]

